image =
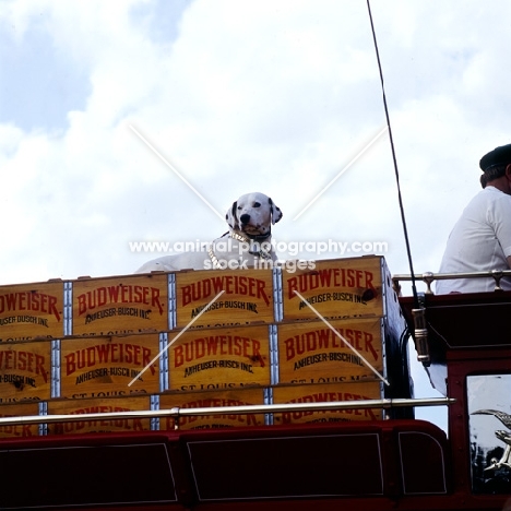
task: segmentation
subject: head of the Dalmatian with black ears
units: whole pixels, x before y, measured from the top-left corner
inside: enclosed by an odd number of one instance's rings
[[[249,238],[270,236],[272,225],[282,218],[282,211],[264,193],[241,195],[225,215],[233,230],[238,230]]]

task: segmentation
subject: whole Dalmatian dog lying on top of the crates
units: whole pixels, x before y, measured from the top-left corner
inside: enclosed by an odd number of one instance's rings
[[[282,212],[272,199],[259,192],[241,195],[229,207],[225,218],[229,230],[204,247],[203,251],[153,259],[135,273],[234,270],[258,264],[264,268],[261,260],[276,261],[271,243],[272,225],[282,218]]]

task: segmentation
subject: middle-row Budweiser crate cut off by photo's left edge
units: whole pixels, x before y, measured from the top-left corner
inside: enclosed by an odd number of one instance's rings
[[[51,395],[51,342],[0,344],[0,404]]]

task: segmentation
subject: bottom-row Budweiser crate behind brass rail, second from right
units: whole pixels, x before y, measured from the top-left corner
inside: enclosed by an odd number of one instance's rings
[[[230,389],[221,392],[173,392],[159,396],[161,409],[210,408],[216,406],[246,406],[264,404],[263,389]],[[162,417],[159,429],[216,429],[246,426],[264,426],[263,414],[198,415],[180,417],[176,424],[174,417]]]

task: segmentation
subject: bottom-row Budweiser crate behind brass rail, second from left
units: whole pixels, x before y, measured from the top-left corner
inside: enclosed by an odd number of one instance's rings
[[[48,403],[48,415],[83,415],[151,409],[150,396],[94,400],[55,400]],[[135,432],[151,430],[150,418],[84,419],[69,423],[48,423],[49,435],[91,432]]]

